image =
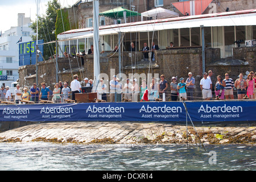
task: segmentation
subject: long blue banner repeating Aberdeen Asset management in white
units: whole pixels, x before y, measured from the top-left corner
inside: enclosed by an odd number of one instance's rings
[[[192,121],[255,121],[256,101],[184,102]],[[183,102],[0,105],[0,121],[185,122]],[[189,117],[188,121],[189,121]]]

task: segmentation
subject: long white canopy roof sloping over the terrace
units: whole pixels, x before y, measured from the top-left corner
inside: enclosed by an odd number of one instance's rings
[[[229,11],[223,13],[180,16],[175,18],[148,20],[100,27],[100,35],[118,34],[118,32],[158,31],[175,28],[251,26],[256,25],[256,9]],[[59,34],[58,39],[80,39],[93,37],[93,28],[69,30]]]

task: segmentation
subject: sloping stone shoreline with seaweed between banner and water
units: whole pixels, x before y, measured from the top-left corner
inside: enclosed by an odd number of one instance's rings
[[[199,144],[201,140],[203,144],[256,143],[255,123],[206,125],[195,129],[164,122],[48,122],[0,133],[0,142]]]

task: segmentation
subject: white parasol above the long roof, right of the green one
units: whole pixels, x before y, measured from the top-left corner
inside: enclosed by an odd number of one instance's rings
[[[177,17],[179,16],[179,13],[175,13],[174,11],[170,11],[170,10],[163,9],[162,7],[158,7],[156,9],[143,12],[141,14],[142,21],[143,21],[143,16],[154,17],[155,19],[163,19],[163,18]]]

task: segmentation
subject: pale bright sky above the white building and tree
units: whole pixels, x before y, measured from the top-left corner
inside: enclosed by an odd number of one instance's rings
[[[45,14],[48,0],[39,0],[39,15]],[[61,7],[73,5],[77,0],[58,0]],[[4,33],[11,27],[18,26],[18,13],[25,13],[25,17],[36,20],[36,0],[0,0],[0,31]]]

